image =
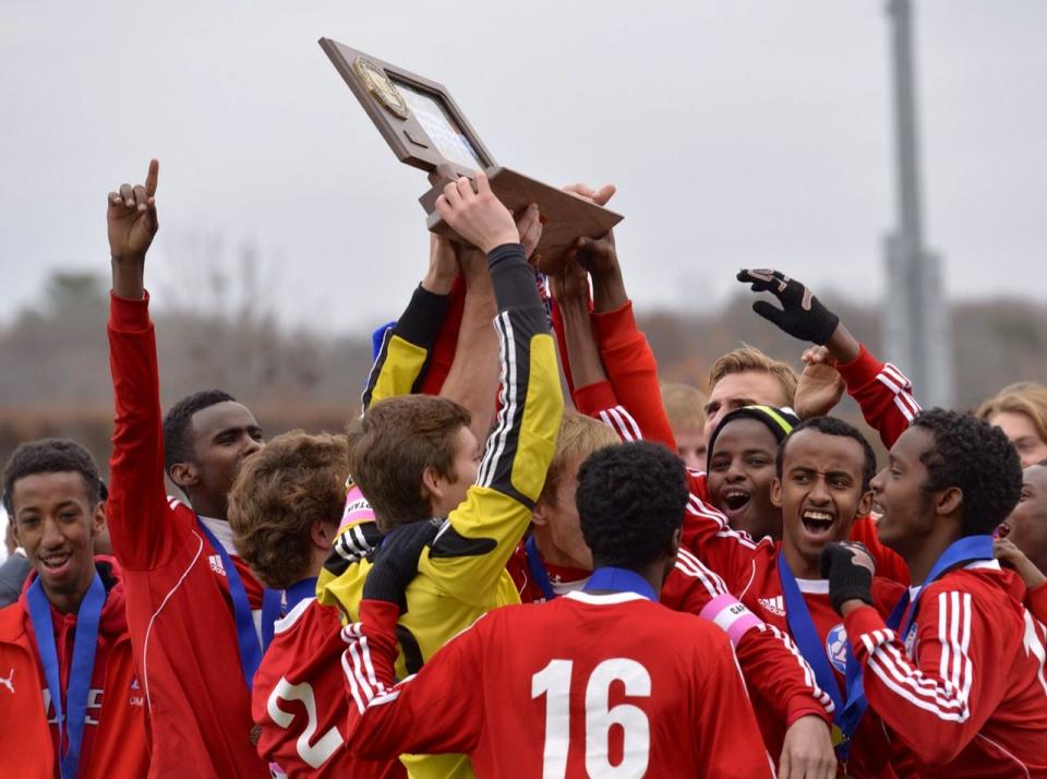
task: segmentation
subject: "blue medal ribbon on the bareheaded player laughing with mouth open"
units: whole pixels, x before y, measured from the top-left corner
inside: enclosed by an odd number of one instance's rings
[[[818,686],[832,698],[834,707],[832,721],[840,731],[839,734],[834,733],[837,738],[833,739],[837,756],[840,760],[846,760],[851,754],[851,739],[858,729],[862,715],[869,706],[865,698],[862,666],[854,658],[849,640],[846,645],[846,673],[844,674],[847,698],[844,700],[840,694],[837,674],[829,664],[823,643],[818,636],[815,621],[810,616],[806,601],[804,601],[804,595],[799,591],[793,570],[789,567],[782,552],[778,553],[778,576],[782,583],[782,597],[785,601],[785,620],[789,622],[789,632],[795,639],[796,646],[799,647],[799,654],[810,663],[815,672],[815,679],[818,680]],[[835,743],[837,739],[839,739],[839,743]]]

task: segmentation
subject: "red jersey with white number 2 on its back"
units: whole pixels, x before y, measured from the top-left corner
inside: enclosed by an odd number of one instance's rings
[[[262,729],[258,755],[291,779],[406,777],[397,759],[361,760],[346,748],[349,702],[340,634],[338,610],[315,598],[276,623],[251,696],[251,714]]]

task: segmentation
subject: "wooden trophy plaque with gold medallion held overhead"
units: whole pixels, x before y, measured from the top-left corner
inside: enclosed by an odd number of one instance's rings
[[[607,208],[495,163],[443,85],[330,38],[321,38],[320,46],[399,160],[429,172],[432,188],[419,202],[429,214],[433,232],[461,240],[436,213],[436,197],[452,177],[472,179],[480,169],[514,214],[538,204],[544,219],[535,250],[542,271],[559,267],[567,250],[582,236],[600,238],[622,221],[622,216]]]

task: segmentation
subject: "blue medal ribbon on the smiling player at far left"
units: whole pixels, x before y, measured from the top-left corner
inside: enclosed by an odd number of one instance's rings
[[[39,577],[26,592],[29,621],[36,634],[36,647],[44,667],[44,678],[55,706],[58,723],[58,764],[62,779],[75,779],[80,765],[80,747],[84,742],[84,720],[87,719],[87,697],[95,670],[95,649],[98,647],[98,623],[106,603],[106,587],[98,572],[87,588],[76,612],[76,635],[73,638],[73,664],[69,673],[69,690],[62,695],[58,648],[55,646],[55,623],[51,601],[48,600]],[[64,704],[63,704],[64,698]],[[65,745],[64,754],[62,746]]]

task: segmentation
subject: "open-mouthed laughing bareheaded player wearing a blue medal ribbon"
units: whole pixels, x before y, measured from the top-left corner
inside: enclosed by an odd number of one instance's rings
[[[847,658],[841,651],[846,634],[819,570],[825,546],[846,539],[855,518],[869,511],[875,455],[851,424],[816,417],[785,438],[775,470],[771,502],[781,511],[781,541],[754,541],[710,512],[688,515],[685,541],[750,611],[798,646],[818,686],[833,697],[833,734],[845,770],[879,776],[890,770],[889,745],[876,718],[862,716],[861,696],[851,695],[846,684]],[[874,580],[874,601],[884,614],[901,594],[892,582]],[[663,594],[663,599],[672,595]]]

